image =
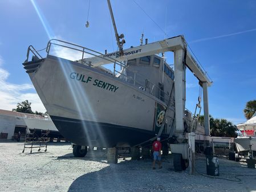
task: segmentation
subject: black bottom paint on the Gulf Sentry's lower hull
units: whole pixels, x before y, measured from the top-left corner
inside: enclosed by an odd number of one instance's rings
[[[155,136],[155,132],[100,122],[51,116],[59,132],[78,145],[114,147],[117,144],[140,144]],[[163,137],[163,136],[161,136]]]

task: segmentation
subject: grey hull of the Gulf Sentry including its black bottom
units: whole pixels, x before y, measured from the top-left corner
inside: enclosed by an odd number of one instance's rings
[[[27,72],[56,128],[68,140],[115,146],[155,136],[156,106],[166,107],[162,101],[80,63],[52,56],[38,63],[36,72]]]

